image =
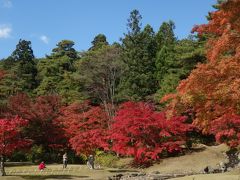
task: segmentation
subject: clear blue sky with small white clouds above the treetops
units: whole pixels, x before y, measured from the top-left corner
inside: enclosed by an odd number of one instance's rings
[[[63,39],[87,50],[103,33],[110,43],[127,32],[130,12],[138,9],[142,24],[155,31],[173,20],[178,39],[196,24],[206,23],[216,0],[0,0],[0,59],[8,57],[19,39],[30,40],[36,57],[44,57]]]

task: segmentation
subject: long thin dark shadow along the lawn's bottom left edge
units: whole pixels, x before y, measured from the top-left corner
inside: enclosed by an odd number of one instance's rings
[[[28,176],[20,176],[24,179],[49,179],[49,178],[53,178],[53,179],[80,179],[80,178],[88,178],[89,176],[71,176],[71,175],[28,175]]]

